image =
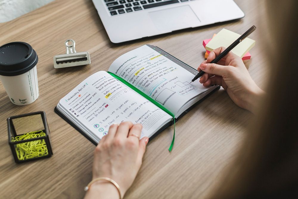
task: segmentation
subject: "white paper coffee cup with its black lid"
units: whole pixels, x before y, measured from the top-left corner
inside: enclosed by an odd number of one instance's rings
[[[38,98],[37,62],[36,52],[27,43],[0,47],[0,80],[13,104],[24,106]]]

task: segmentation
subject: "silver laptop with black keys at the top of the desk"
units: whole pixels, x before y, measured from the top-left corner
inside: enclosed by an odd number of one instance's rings
[[[244,17],[233,0],[92,0],[113,43]]]

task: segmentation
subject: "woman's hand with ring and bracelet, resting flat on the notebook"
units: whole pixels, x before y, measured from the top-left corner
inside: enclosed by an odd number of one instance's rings
[[[148,137],[141,140],[142,124],[122,122],[111,125],[94,151],[92,178],[107,177],[120,187],[123,197],[141,167]],[[86,198],[119,198],[116,187],[106,181],[94,182]]]

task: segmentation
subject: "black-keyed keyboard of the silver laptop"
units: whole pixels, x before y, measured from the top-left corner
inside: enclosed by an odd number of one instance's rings
[[[189,0],[104,0],[110,14],[119,15],[124,13],[135,12],[138,10],[176,4]]]

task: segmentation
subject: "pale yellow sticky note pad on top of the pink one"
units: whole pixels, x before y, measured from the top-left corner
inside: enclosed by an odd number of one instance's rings
[[[234,33],[227,29],[222,29],[208,42],[208,44],[206,44],[205,49],[208,51],[212,51],[221,46],[228,47],[239,37],[240,35],[237,33]],[[252,47],[254,47],[255,43],[256,41],[250,38],[245,38],[231,51],[242,58],[249,50],[252,49]]]

